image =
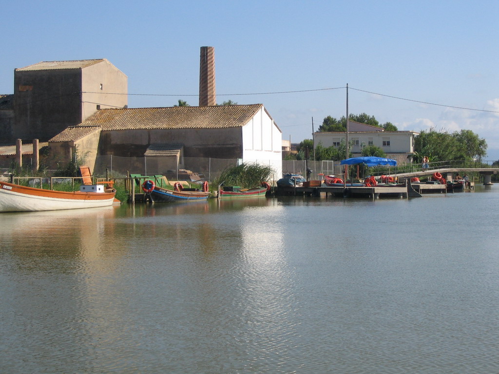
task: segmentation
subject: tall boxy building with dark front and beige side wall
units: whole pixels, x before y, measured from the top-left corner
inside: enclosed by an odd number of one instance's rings
[[[127,79],[105,58],[15,69],[14,126],[8,140],[48,140],[99,109],[126,107]]]

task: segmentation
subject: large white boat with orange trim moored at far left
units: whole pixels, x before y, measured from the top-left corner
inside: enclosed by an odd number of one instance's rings
[[[0,181],[0,212],[63,210],[110,206],[116,190],[104,185],[82,185],[66,192],[25,187]]]

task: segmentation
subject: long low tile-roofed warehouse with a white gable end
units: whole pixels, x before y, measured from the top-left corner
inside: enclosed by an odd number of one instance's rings
[[[49,140],[55,154],[76,151],[93,169],[97,155],[174,158],[165,169],[197,170],[186,158],[240,159],[282,173],[282,133],[262,104],[103,109]],[[158,161],[159,162],[159,161]],[[159,170],[165,173],[166,170]]]

